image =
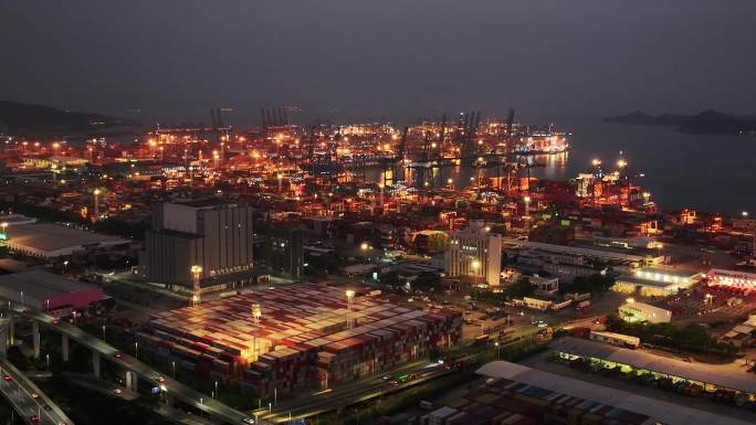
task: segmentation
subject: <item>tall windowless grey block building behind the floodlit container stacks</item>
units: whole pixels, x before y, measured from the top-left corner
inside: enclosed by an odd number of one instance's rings
[[[139,255],[141,276],[189,288],[191,268],[200,266],[203,290],[250,281],[252,214],[251,206],[217,200],[157,204]]]

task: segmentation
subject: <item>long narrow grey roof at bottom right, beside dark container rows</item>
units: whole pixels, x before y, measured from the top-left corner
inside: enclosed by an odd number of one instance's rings
[[[685,363],[687,364],[687,363]],[[522,364],[494,361],[477,370],[479,374],[506,379],[557,393],[596,401],[641,413],[670,425],[746,425],[752,422],[728,416],[715,415],[664,401],[645,397],[622,390],[597,385],[549,372],[539,371]]]

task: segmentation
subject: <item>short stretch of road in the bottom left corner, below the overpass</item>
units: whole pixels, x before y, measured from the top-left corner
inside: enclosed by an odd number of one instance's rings
[[[72,425],[73,422],[36,385],[7,359],[0,358],[0,392],[28,424]],[[9,379],[6,379],[9,376]],[[35,396],[33,396],[33,395]],[[33,422],[32,416],[39,418]]]

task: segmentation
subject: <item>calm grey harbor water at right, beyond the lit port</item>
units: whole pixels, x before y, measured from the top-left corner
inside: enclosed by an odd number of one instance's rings
[[[570,179],[580,172],[590,172],[595,158],[602,161],[605,170],[612,171],[622,152],[631,171],[644,174],[637,182],[652,193],[662,209],[756,214],[754,137],[686,135],[666,127],[629,126],[600,119],[556,123],[560,130],[573,134],[573,149],[567,153],[537,156],[536,160],[545,167],[533,169],[534,177]],[[470,167],[448,168],[435,181],[445,182],[451,178],[455,185],[466,185],[473,176]],[[495,171],[489,170],[487,176],[495,176]],[[378,178],[377,173],[374,178]]]

